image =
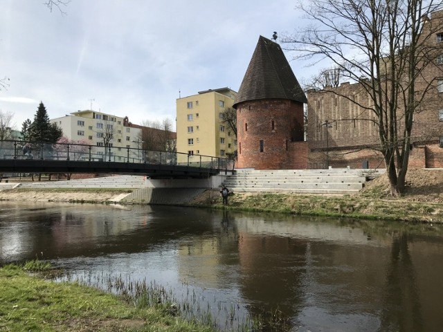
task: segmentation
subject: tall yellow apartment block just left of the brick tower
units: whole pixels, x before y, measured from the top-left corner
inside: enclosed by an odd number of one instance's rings
[[[200,156],[226,158],[237,150],[237,136],[221,120],[221,113],[232,108],[237,92],[229,88],[200,91],[177,99],[177,152],[179,162]],[[206,159],[206,158],[205,158]]]

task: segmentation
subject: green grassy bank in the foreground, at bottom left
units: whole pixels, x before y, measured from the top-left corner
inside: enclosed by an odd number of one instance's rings
[[[29,275],[46,268],[39,263],[0,268],[0,331],[214,331],[181,319],[168,303],[147,305]]]

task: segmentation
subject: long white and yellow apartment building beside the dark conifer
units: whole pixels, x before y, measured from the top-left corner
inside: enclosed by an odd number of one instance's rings
[[[63,136],[69,140],[93,145],[94,159],[123,161],[128,156],[128,148],[134,149],[129,151],[129,158],[138,158],[136,149],[141,148],[141,129],[125,126],[124,118],[86,110],[51,119],[51,122],[62,128]]]

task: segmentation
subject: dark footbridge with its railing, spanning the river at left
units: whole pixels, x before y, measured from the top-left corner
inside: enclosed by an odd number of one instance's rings
[[[30,152],[24,146],[30,147]],[[0,140],[1,173],[142,174],[150,178],[208,178],[226,158],[130,147]]]

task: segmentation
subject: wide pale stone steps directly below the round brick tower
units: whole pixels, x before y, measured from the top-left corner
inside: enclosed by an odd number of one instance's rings
[[[233,192],[282,192],[296,194],[354,194],[369,178],[383,170],[374,169],[278,169],[237,170],[224,181]]]

